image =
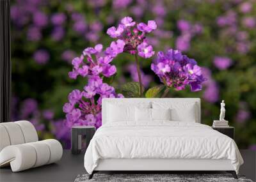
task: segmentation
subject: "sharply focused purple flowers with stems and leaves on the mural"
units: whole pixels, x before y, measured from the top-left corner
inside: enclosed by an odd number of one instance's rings
[[[83,50],[83,55],[72,60],[73,70],[68,75],[70,79],[76,79],[78,75],[87,77],[88,83],[83,91],[74,89],[68,95],[68,103],[63,106],[66,113],[65,125],[69,128],[77,125],[101,126],[101,103],[102,98],[124,98],[122,93],[115,93],[115,88],[104,83],[104,78],[113,77],[116,67],[111,61],[118,54],[129,53],[135,56],[138,82],[129,82],[124,86],[125,95],[143,97],[143,82],[141,79],[140,63],[138,56],[149,58],[154,55],[152,45],[148,45],[145,33],[156,29],[156,22],[149,20],[148,24],[136,24],[131,17],[124,17],[121,24],[110,27],[107,33],[111,38],[120,38],[111,42],[106,50],[102,51],[102,44],[95,47],[88,47]],[[93,59],[95,57],[95,59]],[[85,60],[84,60],[85,59]],[[163,97],[168,94],[170,87],[176,90],[185,89],[186,85],[191,86],[191,91],[200,91],[205,78],[201,68],[196,64],[195,59],[181,54],[179,50],[170,49],[164,55],[158,52],[156,63],[151,64],[151,69],[159,76],[161,82],[166,86]],[[139,86],[138,86],[139,84]],[[137,89],[136,89],[137,86]],[[156,97],[163,86],[155,86],[148,89],[146,97]],[[136,95],[138,90],[138,95]]]

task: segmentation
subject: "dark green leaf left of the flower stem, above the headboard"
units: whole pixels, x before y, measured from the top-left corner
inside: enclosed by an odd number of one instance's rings
[[[140,84],[139,82],[128,82],[120,88],[125,97],[140,97]]]

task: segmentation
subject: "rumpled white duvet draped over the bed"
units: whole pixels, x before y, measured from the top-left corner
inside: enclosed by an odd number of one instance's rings
[[[179,121],[139,124],[101,126],[84,155],[86,171],[92,174],[99,159],[106,158],[228,159],[237,174],[243,164],[236,142],[210,126]]]

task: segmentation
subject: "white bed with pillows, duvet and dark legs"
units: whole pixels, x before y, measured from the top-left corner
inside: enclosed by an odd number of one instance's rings
[[[170,107],[172,118],[133,121],[129,110],[122,113],[113,105],[159,112]],[[126,120],[109,116],[118,114]],[[200,116],[199,98],[103,99],[102,126],[86,150],[84,167],[90,178],[96,171],[230,171],[237,178],[243,158],[236,143],[200,124]]]

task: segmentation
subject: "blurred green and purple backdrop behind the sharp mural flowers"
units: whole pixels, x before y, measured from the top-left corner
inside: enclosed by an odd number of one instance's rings
[[[225,100],[229,125],[236,127],[239,148],[256,150],[256,2],[241,0],[13,0],[12,120],[28,119],[41,139],[54,137],[70,148],[70,129],[63,125],[63,104],[86,79],[68,78],[71,61],[86,47],[102,43],[122,17],[156,20],[150,33],[154,50],[175,48],[196,59],[207,81],[202,91],[170,91],[170,97],[202,98],[202,123],[218,119]],[[142,60],[142,59],[141,59]],[[145,87],[159,84],[141,61]],[[112,86],[136,80],[132,56],[118,56]]]

